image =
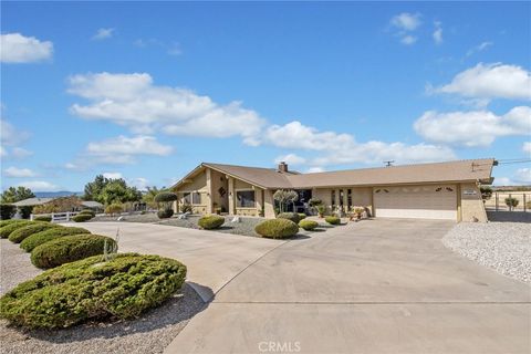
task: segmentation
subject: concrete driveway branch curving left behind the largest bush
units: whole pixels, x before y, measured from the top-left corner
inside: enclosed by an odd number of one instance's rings
[[[181,261],[188,268],[187,282],[205,302],[246,267],[284,242],[153,223],[85,222],[82,227],[111,237],[119,229],[121,252],[159,254]]]

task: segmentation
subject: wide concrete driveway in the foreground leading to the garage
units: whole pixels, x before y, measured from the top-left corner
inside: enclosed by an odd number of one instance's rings
[[[283,243],[165,353],[529,353],[530,287],[446,249],[452,226],[381,219]]]

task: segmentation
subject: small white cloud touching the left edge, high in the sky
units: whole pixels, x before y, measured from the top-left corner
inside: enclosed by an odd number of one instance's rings
[[[2,63],[32,63],[52,58],[53,43],[41,42],[34,37],[24,37],[20,33],[0,35]]]

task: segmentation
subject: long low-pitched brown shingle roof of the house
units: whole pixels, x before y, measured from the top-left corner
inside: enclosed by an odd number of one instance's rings
[[[281,173],[274,168],[202,163],[174,187],[210,167],[261,188],[313,188],[339,186],[376,186],[396,184],[482,181],[491,183],[493,158],[446,163],[400,165],[314,174]]]

